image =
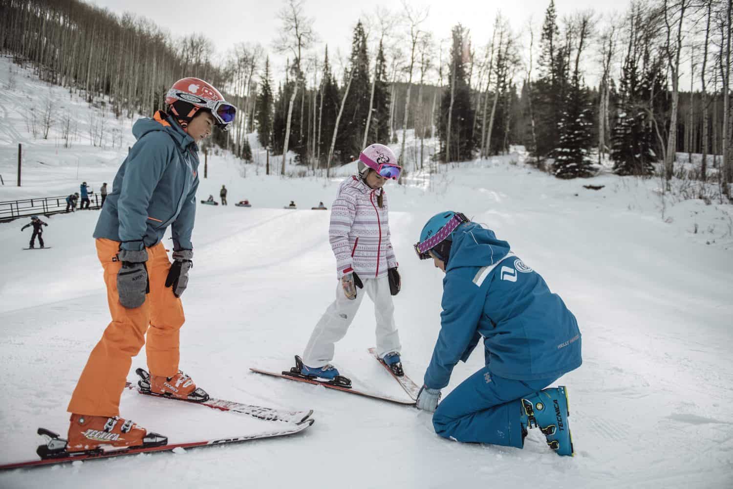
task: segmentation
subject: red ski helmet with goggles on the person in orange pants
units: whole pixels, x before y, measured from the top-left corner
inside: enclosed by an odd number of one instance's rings
[[[168,112],[182,128],[196,116],[199,109],[207,109],[216,119],[217,127],[226,130],[234,121],[237,108],[224,100],[213,85],[200,78],[181,78],[166,93]]]

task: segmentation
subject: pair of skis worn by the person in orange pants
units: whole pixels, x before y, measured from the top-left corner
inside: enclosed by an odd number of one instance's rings
[[[148,373],[143,369],[137,369],[137,374],[141,380],[146,380]],[[139,394],[151,397],[163,397],[153,394],[149,390],[141,389],[133,383],[126,383],[125,389],[136,390]],[[172,397],[168,399],[177,400]],[[191,404],[202,405],[216,411],[228,411],[231,413],[239,413],[246,416],[252,416],[270,422],[282,422],[282,427],[276,430],[268,430],[259,433],[250,433],[245,435],[237,435],[229,438],[216,438],[210,440],[189,441],[185,443],[174,443],[155,446],[139,446],[136,448],[100,448],[87,452],[67,452],[66,440],[61,438],[57,433],[45,428],[38,428],[37,433],[45,437],[45,444],[38,446],[36,450],[40,460],[29,460],[26,462],[8,463],[0,465],[0,470],[8,470],[12,468],[26,468],[38,466],[50,466],[59,463],[70,463],[76,460],[98,460],[102,458],[119,457],[122,455],[136,455],[138,453],[151,452],[173,452],[176,449],[195,448],[198,446],[213,446],[222,444],[232,444],[242,441],[259,440],[261,438],[276,438],[279,436],[294,435],[306,430],[314,423],[312,419],[313,410],[309,411],[287,411],[275,408],[265,408],[258,405],[244,404],[242,402],[234,402],[222,399],[210,398],[205,402],[194,402],[188,400],[177,400],[179,402],[188,402]]]

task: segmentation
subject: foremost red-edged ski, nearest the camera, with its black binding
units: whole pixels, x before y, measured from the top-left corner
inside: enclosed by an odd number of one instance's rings
[[[198,446],[213,446],[230,443],[239,443],[241,441],[259,440],[260,438],[275,438],[278,436],[292,435],[300,433],[307,427],[311,426],[314,419],[309,419],[303,424],[290,424],[290,427],[284,427],[281,430],[271,430],[261,433],[253,433],[250,435],[232,436],[231,438],[217,438],[213,440],[189,441],[187,443],[175,443],[159,446],[144,446],[141,448],[122,448],[122,449],[97,449],[90,452],[77,452],[71,454],[66,451],[66,440],[59,438],[56,433],[38,428],[39,435],[45,435],[48,439],[45,445],[40,445],[36,453],[41,460],[29,460],[27,462],[7,463],[0,466],[0,470],[10,470],[12,468],[51,466],[57,463],[71,463],[76,460],[99,460],[102,458],[121,457],[123,455],[136,455],[139,453],[150,452],[172,452],[174,449],[196,448]]]

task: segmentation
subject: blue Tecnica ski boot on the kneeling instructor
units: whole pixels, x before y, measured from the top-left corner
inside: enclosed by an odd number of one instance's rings
[[[573,455],[565,386],[542,389],[522,399],[522,425],[539,428],[557,455]]]

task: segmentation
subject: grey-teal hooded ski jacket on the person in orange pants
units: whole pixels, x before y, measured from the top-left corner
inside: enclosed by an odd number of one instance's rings
[[[133,135],[137,141],[117,170],[94,237],[141,250],[161,241],[171,225],[173,249],[193,249],[199,148],[163,111],[135,122]]]

